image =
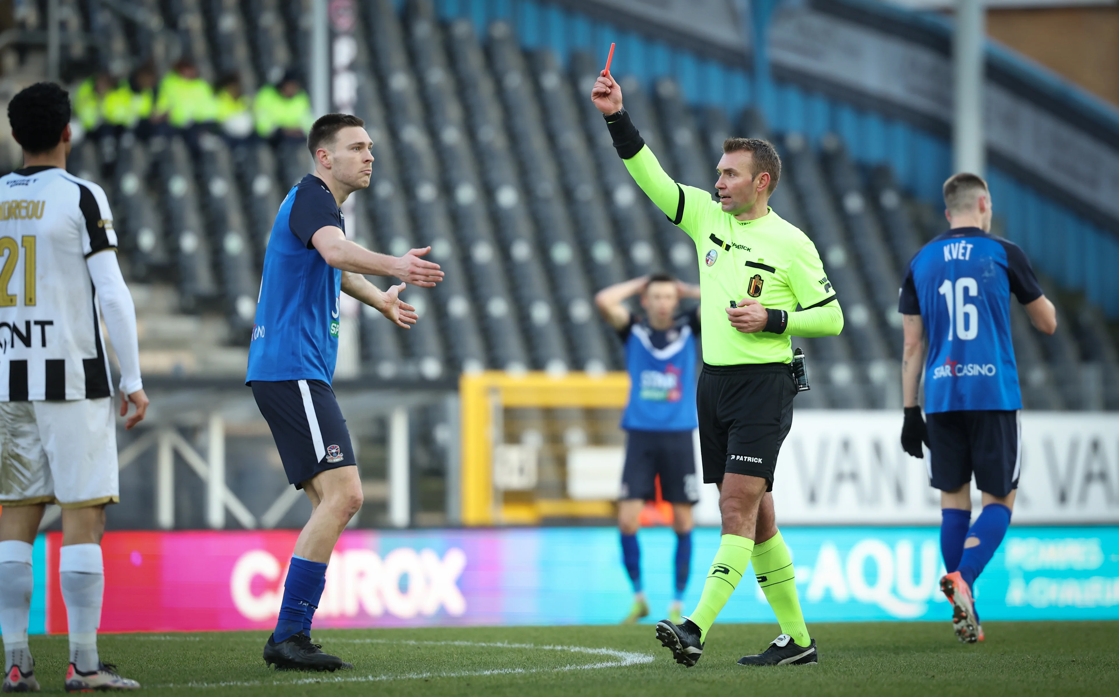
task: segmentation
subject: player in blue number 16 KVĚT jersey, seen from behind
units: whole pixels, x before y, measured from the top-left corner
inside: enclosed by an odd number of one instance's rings
[[[944,182],[951,229],[910,262],[899,311],[905,335],[902,448],[923,458],[940,489],[940,547],[948,574],[940,587],[952,603],[960,641],[984,638],[971,588],[1010,525],[1021,467],[1018,368],[1010,342],[1010,294],[1038,330],[1056,331],[1056,311],[1022,249],[990,234],[987,182],[959,173]],[[928,337],[929,356],[922,360]],[[918,389],[924,375],[921,418]],[[971,477],[982,512],[971,524]]]

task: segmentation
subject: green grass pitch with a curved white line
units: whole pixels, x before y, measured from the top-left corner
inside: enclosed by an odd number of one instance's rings
[[[949,622],[812,624],[818,666],[735,665],[773,639],[768,624],[716,624],[695,668],[671,661],[651,625],[323,630],[316,641],[355,665],[275,671],[266,634],[104,634],[102,660],[145,691],[175,695],[1111,695],[1119,622],[989,622],[965,646]],[[65,635],[32,637],[44,691],[62,691]]]

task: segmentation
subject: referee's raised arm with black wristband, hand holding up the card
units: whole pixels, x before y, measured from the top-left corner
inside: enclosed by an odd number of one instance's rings
[[[694,187],[683,187],[665,172],[645,139],[622,107],[622,90],[613,76],[603,70],[591,90],[591,101],[606,120],[614,150],[626,162],[633,181],[641,187],[657,208],[680,229],[693,234],[697,204],[712,202],[711,194]],[[687,205],[687,204],[692,205]]]

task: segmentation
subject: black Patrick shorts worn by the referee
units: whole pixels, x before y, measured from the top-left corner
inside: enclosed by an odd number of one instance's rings
[[[777,453],[792,427],[797,384],[788,364],[704,364],[696,387],[703,480],[721,483],[726,472],[765,480],[773,490]]]

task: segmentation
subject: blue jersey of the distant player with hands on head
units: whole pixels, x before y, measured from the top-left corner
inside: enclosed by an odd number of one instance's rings
[[[631,318],[619,332],[626,343],[630,398],[622,414],[627,431],[692,431],[696,421],[696,348],[699,313],[657,330]]]

